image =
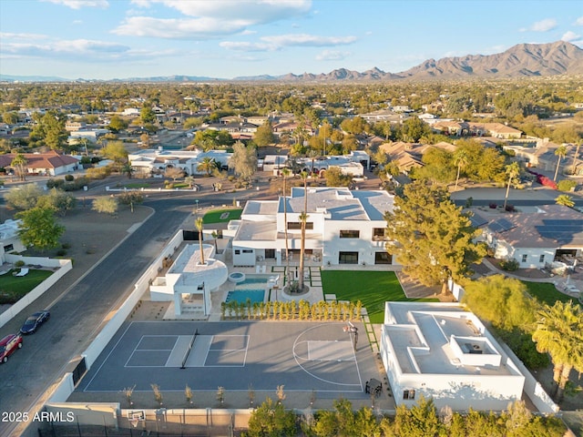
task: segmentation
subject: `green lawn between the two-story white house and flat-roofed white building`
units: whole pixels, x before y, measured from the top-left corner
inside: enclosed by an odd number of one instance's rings
[[[322,270],[324,294],[335,294],[337,300],[360,300],[371,323],[383,323],[384,302],[437,302],[436,299],[407,299],[393,271]]]

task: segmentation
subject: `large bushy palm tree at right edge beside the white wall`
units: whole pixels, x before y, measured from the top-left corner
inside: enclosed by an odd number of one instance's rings
[[[537,351],[547,352],[553,361],[553,381],[551,395],[561,401],[571,370],[583,371],[583,311],[581,307],[568,302],[545,305],[538,311],[537,330],[532,340],[537,343]]]

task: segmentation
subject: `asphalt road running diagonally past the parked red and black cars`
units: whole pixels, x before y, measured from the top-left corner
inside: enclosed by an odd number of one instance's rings
[[[49,324],[26,337],[26,347],[10,358],[10,365],[0,367],[0,412],[29,411],[64,373],[68,361],[87,348],[102,320],[126,298],[139,275],[189,216],[192,203],[191,198],[149,202],[155,214],[56,300]],[[48,307],[62,291],[53,287],[34,307]],[[11,323],[18,326],[20,321]],[[0,422],[0,435],[11,435],[14,426]]]

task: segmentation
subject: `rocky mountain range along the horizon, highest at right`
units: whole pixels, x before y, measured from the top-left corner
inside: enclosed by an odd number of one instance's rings
[[[427,59],[401,73],[388,73],[374,67],[364,72],[339,68],[330,73],[303,73],[283,76],[239,76],[222,79],[207,76],[156,76],[129,77],[115,79],[124,82],[366,82],[388,80],[427,80],[427,79],[467,79],[467,78],[506,78],[528,76],[583,75],[583,49],[565,41],[549,44],[518,44],[505,52],[495,55],[466,55],[444,57],[438,60]],[[67,81],[56,77],[43,76],[6,76],[0,75],[0,81]],[[77,79],[87,82],[88,79]]]

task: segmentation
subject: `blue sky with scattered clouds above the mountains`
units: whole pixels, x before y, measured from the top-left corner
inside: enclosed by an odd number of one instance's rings
[[[580,0],[0,0],[0,74],[272,76],[583,48]]]

